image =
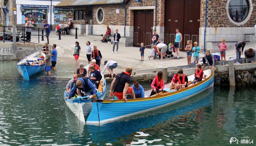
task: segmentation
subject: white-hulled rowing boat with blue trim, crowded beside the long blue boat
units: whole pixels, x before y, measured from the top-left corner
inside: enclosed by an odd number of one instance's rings
[[[88,70],[89,65],[85,66]],[[104,78],[104,75],[101,73],[102,79],[100,81],[99,89],[97,89],[97,99],[104,99],[107,91],[107,83],[106,79]],[[65,99],[68,94],[66,93],[66,90],[64,92],[64,101],[69,107],[69,109],[74,113],[74,115],[83,123],[85,123],[85,116],[87,116],[92,109],[92,99],[89,99],[87,97],[75,97],[71,99]]]

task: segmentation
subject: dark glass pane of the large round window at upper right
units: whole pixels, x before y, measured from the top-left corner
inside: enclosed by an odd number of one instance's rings
[[[230,0],[228,6],[228,13],[230,18],[235,22],[243,21],[249,11],[248,0]]]

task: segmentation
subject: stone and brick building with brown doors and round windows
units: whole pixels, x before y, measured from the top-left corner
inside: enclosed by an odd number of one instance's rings
[[[101,38],[106,25],[112,35],[118,29],[122,46],[144,42],[150,47],[155,29],[160,40],[168,43],[179,28],[182,48],[192,40],[199,42],[201,49],[218,52],[216,41],[222,38],[229,49],[240,40],[255,42],[255,5],[256,0],[63,0],[56,7],[71,8],[76,26],[84,30],[81,33],[94,38]]]

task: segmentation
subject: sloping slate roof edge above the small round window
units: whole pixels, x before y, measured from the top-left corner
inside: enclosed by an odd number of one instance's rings
[[[63,0],[56,7],[120,4],[124,0]]]

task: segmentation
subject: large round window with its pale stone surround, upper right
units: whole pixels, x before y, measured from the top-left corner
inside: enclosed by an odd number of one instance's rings
[[[251,0],[228,0],[227,13],[230,21],[236,25],[246,23],[252,12]]]

